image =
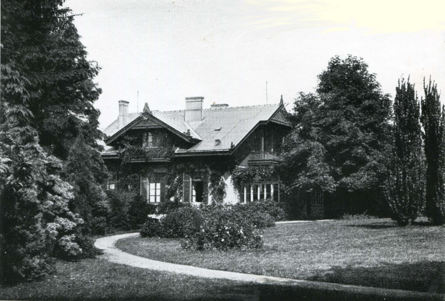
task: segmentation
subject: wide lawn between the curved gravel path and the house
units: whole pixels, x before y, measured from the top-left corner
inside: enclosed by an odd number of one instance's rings
[[[280,224],[262,250],[183,251],[178,239],[133,237],[123,251],[209,269],[445,293],[445,227],[389,219]]]

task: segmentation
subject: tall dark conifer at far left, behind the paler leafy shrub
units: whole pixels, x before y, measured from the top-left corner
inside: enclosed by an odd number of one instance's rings
[[[28,94],[21,104],[32,114],[29,124],[37,130],[39,144],[66,161],[62,176],[76,190],[71,207],[89,228],[101,219],[94,207],[105,202],[101,185],[106,168],[97,151],[103,134],[93,107],[101,93],[93,82],[99,67],[87,60],[74,15],[63,2],[1,1],[2,66],[26,78]]]

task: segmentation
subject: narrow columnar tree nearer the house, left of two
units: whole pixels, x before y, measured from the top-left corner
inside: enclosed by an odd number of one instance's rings
[[[417,217],[424,191],[420,103],[409,78],[396,87],[393,132],[389,204],[392,218],[405,226]]]

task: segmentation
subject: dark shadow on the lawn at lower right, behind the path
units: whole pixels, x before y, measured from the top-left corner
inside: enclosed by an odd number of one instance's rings
[[[376,267],[335,266],[308,280],[445,294],[445,261],[385,263]]]

